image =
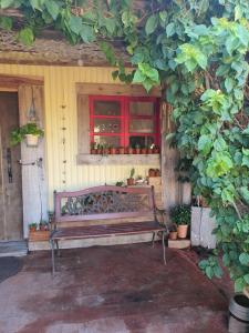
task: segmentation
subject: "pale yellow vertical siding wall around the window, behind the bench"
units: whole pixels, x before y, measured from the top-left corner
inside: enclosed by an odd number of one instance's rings
[[[124,180],[133,165],[77,165],[76,82],[113,83],[111,68],[71,68],[0,64],[0,74],[33,75],[44,79],[46,179],[49,209],[53,206],[53,190],[76,190],[95,184],[113,184]],[[65,105],[62,109],[62,105]],[[63,120],[64,117],[64,120]],[[62,128],[66,130],[63,133]],[[63,149],[65,138],[65,150]],[[65,165],[63,160],[66,160]],[[136,165],[136,175],[148,168]],[[63,183],[65,180],[65,183]]]

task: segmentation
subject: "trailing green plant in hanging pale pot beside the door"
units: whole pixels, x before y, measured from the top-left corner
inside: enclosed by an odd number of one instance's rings
[[[17,145],[27,140],[27,145],[37,147],[40,137],[44,135],[44,131],[40,129],[37,123],[29,122],[23,127],[17,128],[10,133],[10,144]]]

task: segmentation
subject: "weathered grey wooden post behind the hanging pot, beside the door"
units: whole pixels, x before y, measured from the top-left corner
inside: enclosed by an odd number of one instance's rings
[[[23,125],[29,121],[29,110],[32,103],[33,93],[35,115],[39,120],[39,125],[43,128],[43,87],[21,84],[18,93],[20,125]],[[40,139],[39,145],[35,148],[27,147],[25,142],[21,143],[24,238],[28,238],[29,223],[39,223],[41,219],[48,218],[44,159],[44,139]]]

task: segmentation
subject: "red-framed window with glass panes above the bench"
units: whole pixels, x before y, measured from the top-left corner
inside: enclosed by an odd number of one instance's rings
[[[159,145],[157,98],[91,95],[89,105],[92,144],[114,148]]]

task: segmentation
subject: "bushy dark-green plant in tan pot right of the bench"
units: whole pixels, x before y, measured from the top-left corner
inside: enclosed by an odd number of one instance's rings
[[[177,224],[177,234],[179,239],[186,239],[188,225],[191,220],[191,210],[188,204],[179,204],[170,209],[170,219]]]

